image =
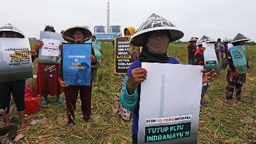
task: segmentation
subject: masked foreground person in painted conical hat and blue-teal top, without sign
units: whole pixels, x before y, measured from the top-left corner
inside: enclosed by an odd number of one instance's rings
[[[170,42],[184,36],[170,21],[159,15],[151,15],[131,37],[131,44],[142,46],[138,60],[134,61],[127,71],[125,84],[120,95],[120,102],[125,109],[132,111],[132,143],[138,143],[138,119],[140,108],[140,83],[147,79],[147,70],[141,68],[141,62],[179,64],[179,61],[167,55]],[[216,73],[203,72],[203,82],[214,80]]]

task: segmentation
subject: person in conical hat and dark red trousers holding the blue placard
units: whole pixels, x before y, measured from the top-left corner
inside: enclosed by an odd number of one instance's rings
[[[91,36],[92,36],[92,32],[81,26],[68,28],[63,33],[64,40],[73,44],[83,44],[86,40],[89,40]],[[95,57],[95,53],[93,49],[91,50],[91,54],[89,57],[90,57],[90,61],[92,61],[92,65],[95,65],[97,63],[97,58]],[[61,60],[61,65],[63,65],[62,60]],[[66,100],[67,117],[68,117],[67,131],[72,131],[72,129],[74,129],[76,101],[77,101],[78,92],[80,93],[83,119],[86,122],[92,122],[92,118],[90,118],[92,84],[90,86],[68,86],[68,84],[66,84],[63,81],[62,68],[60,68],[60,75],[58,80],[59,80],[60,86],[65,88],[65,100]]]

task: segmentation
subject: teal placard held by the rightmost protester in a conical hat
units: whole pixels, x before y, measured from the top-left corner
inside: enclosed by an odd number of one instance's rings
[[[246,74],[247,72],[247,61],[246,61],[246,50],[244,45],[237,45],[235,47],[230,47],[230,54],[234,66],[239,70],[241,74]]]

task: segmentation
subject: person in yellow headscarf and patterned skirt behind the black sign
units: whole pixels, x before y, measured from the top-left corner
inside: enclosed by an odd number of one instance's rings
[[[127,27],[124,29],[124,36],[132,36],[135,33],[135,28],[133,27]],[[122,107],[122,105],[120,104],[120,100],[119,97],[122,93],[122,89],[124,86],[124,82],[125,82],[125,74],[122,74],[119,76],[119,82],[118,82],[118,93],[117,93],[117,97],[116,97],[116,114],[119,115],[123,120],[129,120],[130,119],[130,115],[131,112],[127,111],[127,109],[124,109]]]

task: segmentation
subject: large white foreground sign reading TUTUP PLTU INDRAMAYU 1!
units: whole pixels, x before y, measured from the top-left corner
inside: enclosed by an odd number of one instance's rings
[[[142,63],[138,143],[196,143],[202,66]]]

